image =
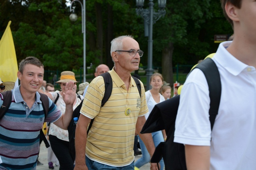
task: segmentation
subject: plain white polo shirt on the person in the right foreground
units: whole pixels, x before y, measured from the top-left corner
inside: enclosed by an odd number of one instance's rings
[[[213,131],[208,84],[202,71],[195,69],[182,88],[174,142],[211,146],[211,170],[252,170],[256,167],[256,70],[232,56],[226,50],[230,44],[221,43],[213,57],[222,84]]]

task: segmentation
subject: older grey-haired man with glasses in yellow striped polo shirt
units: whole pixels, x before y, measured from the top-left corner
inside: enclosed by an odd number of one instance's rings
[[[133,142],[135,131],[152,156],[155,151],[151,134],[140,134],[148,112],[145,89],[141,96],[131,72],[139,69],[143,51],[132,36],[119,36],[111,41],[114,67],[109,71],[113,86],[108,101],[101,106],[105,93],[102,76],[96,77],[85,94],[75,132],[75,169],[134,169]],[[87,136],[87,126],[93,125]],[[86,137],[87,136],[87,137]],[[151,169],[157,169],[151,163]]]

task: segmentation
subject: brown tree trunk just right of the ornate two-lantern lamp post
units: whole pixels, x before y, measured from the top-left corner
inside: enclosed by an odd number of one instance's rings
[[[172,53],[173,43],[169,43],[167,47],[162,50],[162,73],[163,79],[173,85],[173,69],[172,69]]]

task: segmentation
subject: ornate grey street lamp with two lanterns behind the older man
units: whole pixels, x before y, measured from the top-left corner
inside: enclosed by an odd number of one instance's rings
[[[158,12],[154,11],[154,3],[153,0],[149,0],[148,9],[143,9],[144,0],[136,0],[136,12],[137,15],[142,16],[144,19],[144,27],[145,27],[145,36],[148,36],[148,60],[147,60],[147,90],[150,90],[150,77],[154,72],[152,68],[152,55],[153,55],[153,24],[161,18],[161,16],[165,16],[165,5],[166,0],[158,0]]]

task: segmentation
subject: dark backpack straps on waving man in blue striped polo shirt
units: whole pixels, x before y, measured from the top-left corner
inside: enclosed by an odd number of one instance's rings
[[[4,91],[1,92],[1,94],[3,95],[3,104],[0,107],[0,119],[2,119],[2,117],[4,116],[4,114],[8,111],[11,102],[12,102],[12,91]],[[49,100],[48,100],[48,96],[46,96],[45,94],[39,93],[40,94],[40,100],[42,101],[42,106],[44,109],[44,117],[46,118],[48,111],[49,111]],[[40,130],[40,138],[44,141],[45,143],[45,147],[49,148],[50,145],[44,135],[43,130]]]

